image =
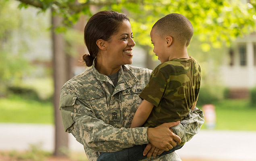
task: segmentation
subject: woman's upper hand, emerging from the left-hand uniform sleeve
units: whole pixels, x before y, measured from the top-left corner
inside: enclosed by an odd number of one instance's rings
[[[181,138],[174,134],[170,128],[177,126],[178,124],[179,121],[169,122],[156,126],[155,128],[148,128],[148,139],[150,143],[165,151],[169,151],[169,149],[176,147],[177,144],[181,143]]]

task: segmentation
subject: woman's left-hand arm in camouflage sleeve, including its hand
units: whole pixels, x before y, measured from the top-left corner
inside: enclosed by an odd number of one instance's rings
[[[74,97],[65,99],[69,106],[60,106],[60,111],[66,132],[72,133],[78,142],[95,151],[114,152],[149,142],[165,149],[170,147],[174,140],[181,140],[169,130],[179,124],[178,122],[164,123],[156,128],[114,128],[96,118],[85,102]],[[75,100],[74,104],[72,100]]]

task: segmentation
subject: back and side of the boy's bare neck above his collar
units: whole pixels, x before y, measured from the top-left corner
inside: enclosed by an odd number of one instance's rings
[[[170,57],[169,60],[171,59],[175,59],[175,58],[189,58],[188,54],[187,54],[187,47],[172,47],[170,48]]]

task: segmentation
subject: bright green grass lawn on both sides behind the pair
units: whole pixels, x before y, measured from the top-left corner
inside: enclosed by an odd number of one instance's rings
[[[256,131],[256,107],[249,100],[223,100],[216,107],[216,129]],[[202,106],[198,106],[202,109]],[[0,122],[53,124],[53,105],[17,95],[0,98]],[[202,126],[206,128],[205,125]]]

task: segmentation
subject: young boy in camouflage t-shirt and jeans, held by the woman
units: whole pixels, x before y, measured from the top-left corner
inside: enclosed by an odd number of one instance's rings
[[[187,54],[193,32],[190,21],[177,13],[159,19],[152,27],[150,36],[153,51],[161,64],[153,70],[148,85],[139,95],[143,101],[134,115],[131,128],[151,128],[165,122],[181,121],[195,108],[201,69],[198,62]],[[161,155],[172,153],[183,144],[164,151]],[[98,160],[144,159],[145,147],[146,145],[136,145],[118,152],[103,153]]]

